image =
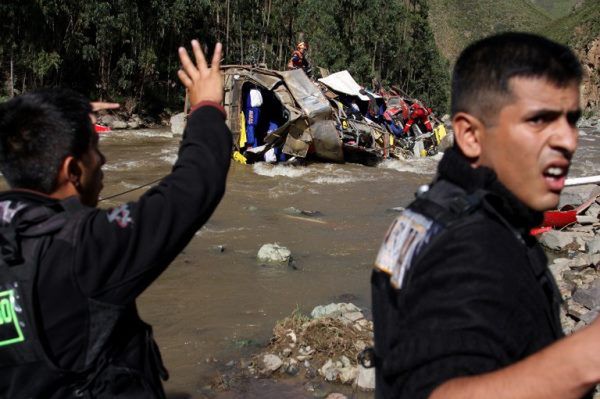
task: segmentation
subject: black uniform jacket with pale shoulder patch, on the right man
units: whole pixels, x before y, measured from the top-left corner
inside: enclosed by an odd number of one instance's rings
[[[442,207],[485,195],[446,226],[411,205],[388,231],[372,274],[377,398],[427,398],[563,335],[556,284],[528,234],[542,215],[456,150],[438,176],[424,197]]]

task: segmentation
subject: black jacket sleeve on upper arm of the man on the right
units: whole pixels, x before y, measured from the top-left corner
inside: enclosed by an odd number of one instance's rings
[[[385,273],[373,273],[384,397],[425,399],[449,379],[493,371],[520,356],[534,333],[518,281],[527,265],[503,238],[515,242],[489,225],[443,234],[399,290]]]

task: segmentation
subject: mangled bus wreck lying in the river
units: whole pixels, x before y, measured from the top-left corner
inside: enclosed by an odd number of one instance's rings
[[[432,150],[439,144],[430,135],[422,135],[410,145],[401,145],[402,140],[394,140],[383,120],[350,115],[348,103],[353,102],[353,95],[363,108],[368,104],[365,99],[374,98],[378,104],[384,99],[360,88],[347,71],[334,74],[343,78],[341,83],[332,80],[334,75],[315,83],[299,69],[229,65],[222,71],[227,124],[233,133],[233,158],[238,162],[315,158],[375,165],[388,157],[432,155],[433,151],[423,150],[423,143],[430,142]],[[354,82],[350,91],[349,82]]]

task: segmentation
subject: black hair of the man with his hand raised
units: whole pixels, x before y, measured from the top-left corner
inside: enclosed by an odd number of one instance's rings
[[[32,91],[0,104],[0,171],[12,188],[50,194],[65,157],[95,135],[90,101],[69,89]]]

